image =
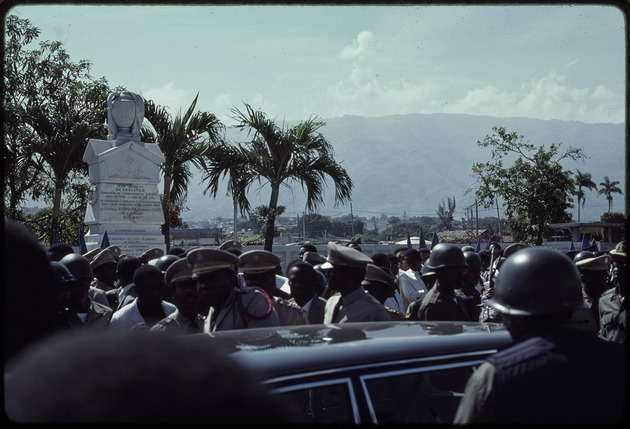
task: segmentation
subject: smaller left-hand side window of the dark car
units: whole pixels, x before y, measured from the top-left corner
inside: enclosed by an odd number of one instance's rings
[[[298,423],[359,423],[350,379],[278,388],[273,392],[297,411]]]

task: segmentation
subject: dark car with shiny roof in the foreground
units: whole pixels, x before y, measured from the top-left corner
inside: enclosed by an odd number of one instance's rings
[[[502,324],[371,322],[215,332],[304,423],[452,423]]]

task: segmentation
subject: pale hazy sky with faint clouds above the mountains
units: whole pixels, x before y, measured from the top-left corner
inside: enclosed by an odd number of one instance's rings
[[[17,6],[94,77],[226,125],[468,113],[622,123],[625,29],[612,6]]]

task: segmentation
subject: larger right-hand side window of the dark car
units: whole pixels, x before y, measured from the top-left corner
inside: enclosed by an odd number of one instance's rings
[[[473,367],[458,364],[362,377],[373,422],[451,424]]]

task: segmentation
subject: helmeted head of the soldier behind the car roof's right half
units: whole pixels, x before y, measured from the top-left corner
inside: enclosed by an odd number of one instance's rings
[[[468,267],[464,253],[455,244],[439,243],[431,249],[431,256],[425,264],[434,271],[440,290],[445,293],[461,289],[464,283],[464,269]]]

